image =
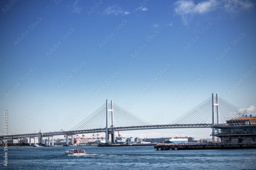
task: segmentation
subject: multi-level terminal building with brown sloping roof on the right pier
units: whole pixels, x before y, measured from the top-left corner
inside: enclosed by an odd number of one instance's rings
[[[215,124],[216,132],[211,136],[219,137],[223,143],[253,143],[256,142],[256,117],[239,117]]]

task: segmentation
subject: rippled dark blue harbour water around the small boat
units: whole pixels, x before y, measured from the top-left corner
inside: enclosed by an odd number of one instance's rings
[[[64,149],[84,149],[65,155]],[[8,148],[8,167],[1,149],[0,169],[256,169],[256,149],[169,150],[154,146]]]

